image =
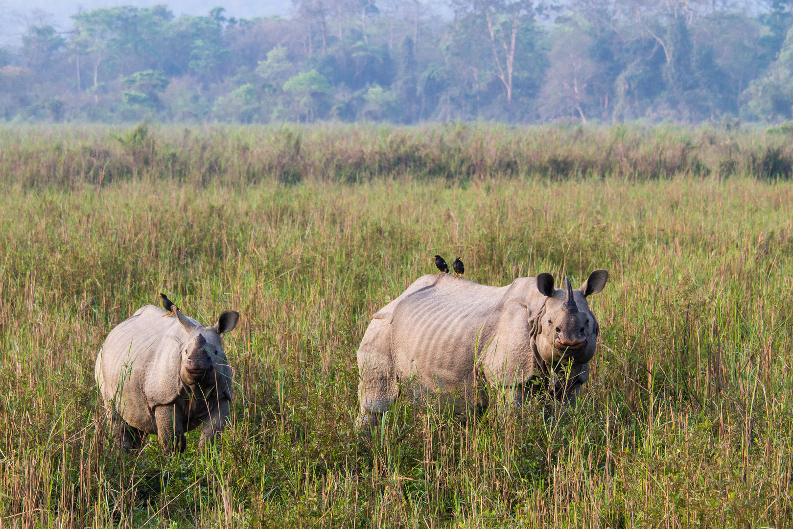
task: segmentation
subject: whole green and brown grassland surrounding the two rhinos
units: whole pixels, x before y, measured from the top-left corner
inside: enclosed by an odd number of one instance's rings
[[[788,143],[0,128],[0,527],[793,527]],[[610,271],[574,407],[400,400],[353,431],[370,316],[435,253],[498,286]],[[205,452],[193,431],[180,456],[125,453],[102,419],[98,349],[161,291],[204,324],[242,314]]]

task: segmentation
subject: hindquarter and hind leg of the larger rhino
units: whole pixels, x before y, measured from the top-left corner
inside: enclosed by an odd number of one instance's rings
[[[391,356],[391,324],[377,315],[366,328],[358,347],[358,401],[355,427],[373,427],[385,409],[397,400],[397,370]]]

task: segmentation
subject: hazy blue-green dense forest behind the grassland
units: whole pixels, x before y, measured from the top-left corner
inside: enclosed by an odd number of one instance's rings
[[[295,0],[47,17],[0,48],[0,119],[779,122],[793,0]]]

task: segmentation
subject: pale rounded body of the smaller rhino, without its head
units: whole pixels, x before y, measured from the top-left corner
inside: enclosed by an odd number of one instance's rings
[[[97,358],[97,382],[106,405],[134,427],[152,430],[151,408],[173,402],[181,386],[179,348],[184,332],[175,318],[147,305],[118,324]]]

